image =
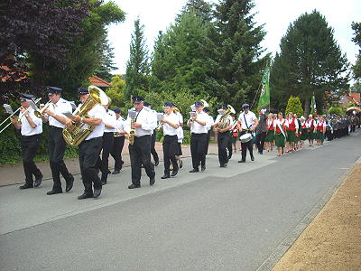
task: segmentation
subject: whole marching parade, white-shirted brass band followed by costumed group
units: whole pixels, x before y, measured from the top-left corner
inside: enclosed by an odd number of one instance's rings
[[[23,170],[25,183],[20,189],[39,187],[42,183],[42,172],[33,162],[42,139],[42,123],[48,123],[49,130],[49,162],[52,175],[52,189],[48,195],[62,193],[60,174],[66,182],[65,192],[73,187],[74,177],[69,173],[63,157],[67,143],[79,146],[79,166],[84,184],[84,192],[78,199],[97,199],[109,173],[109,154],[115,160],[113,174],[120,173],[124,161],[122,150],[125,136],[129,139],[129,156],[131,164],[131,184],[129,189],[141,187],[142,167],[149,178],[150,185],[155,182],[154,165],[159,164],[155,152],[155,133],[162,128],[164,174],[161,179],[175,177],[182,168],[181,144],[184,137],[183,116],[178,107],[171,101],[163,105],[164,113],[151,109],[143,97],[134,96],[134,107],[128,110],[125,118],[121,116],[119,107],[109,109],[111,99],[95,86],[88,89],[79,88],[79,106],[73,108],[69,101],[61,97],[62,89],[47,87],[49,102],[36,106],[30,94],[22,94],[21,107],[12,113],[11,123],[21,132],[21,148],[23,154]],[[8,105],[5,105],[9,107]],[[4,107],[5,107],[4,106]],[[5,108],[6,108],[5,107]],[[211,130],[218,135],[218,161],[220,167],[227,167],[232,152],[236,152],[236,141],[241,142],[241,160],[245,163],[247,150],[251,161],[255,161],[254,145],[258,154],[272,152],[277,148],[277,156],[296,152],[307,140],[310,146],[322,145],[325,138],[333,140],[354,132],[360,126],[359,117],[322,117],[303,116],[298,118],[291,112],[283,117],[262,109],[258,117],[250,111],[248,104],[243,104],[243,112],[236,118],[236,110],[227,104],[218,107],[216,120],[210,116],[208,103],[196,101],[190,106],[190,154],[192,169],[190,173],[206,170],[206,155]],[[158,119],[157,119],[158,118]],[[7,120],[7,119],[6,119]],[[4,122],[3,122],[4,123]],[[2,123],[2,124],[3,124]],[[158,125],[159,123],[159,125]],[[158,127],[158,128],[157,128]],[[4,130],[4,129],[3,129]],[[1,132],[0,132],[1,133]],[[284,150],[287,149],[287,151]],[[151,160],[153,154],[154,164]],[[99,178],[98,173],[101,173]]]

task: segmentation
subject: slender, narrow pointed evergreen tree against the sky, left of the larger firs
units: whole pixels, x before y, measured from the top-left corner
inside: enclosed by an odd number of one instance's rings
[[[141,89],[148,89],[150,63],[145,42],[144,25],[141,25],[139,18],[137,18],[134,21],[129,61],[126,63],[125,98],[137,95]]]

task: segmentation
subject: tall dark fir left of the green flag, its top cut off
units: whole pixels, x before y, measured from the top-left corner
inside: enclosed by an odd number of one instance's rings
[[[264,50],[264,25],[256,26],[253,0],[221,0],[217,5],[217,46],[215,77],[220,82],[218,95],[227,103],[250,102],[255,98],[268,56]]]

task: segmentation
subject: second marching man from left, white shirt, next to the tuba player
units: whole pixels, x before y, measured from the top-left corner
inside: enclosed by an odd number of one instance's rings
[[[72,107],[69,101],[61,98],[62,89],[48,87],[49,106],[43,111],[42,121],[49,122],[49,162],[51,165],[52,189],[47,195],[62,193],[60,173],[65,179],[65,191],[69,192],[73,187],[74,177],[69,173],[64,163],[64,154],[66,143],[62,136],[62,130],[65,126],[71,126],[71,119],[65,114],[71,114]]]

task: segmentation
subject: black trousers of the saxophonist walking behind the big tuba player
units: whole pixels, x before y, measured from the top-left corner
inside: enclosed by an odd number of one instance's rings
[[[141,184],[142,164],[149,178],[155,176],[154,165],[151,162],[151,135],[134,137],[134,145],[129,145],[130,165],[132,168],[132,183]]]

